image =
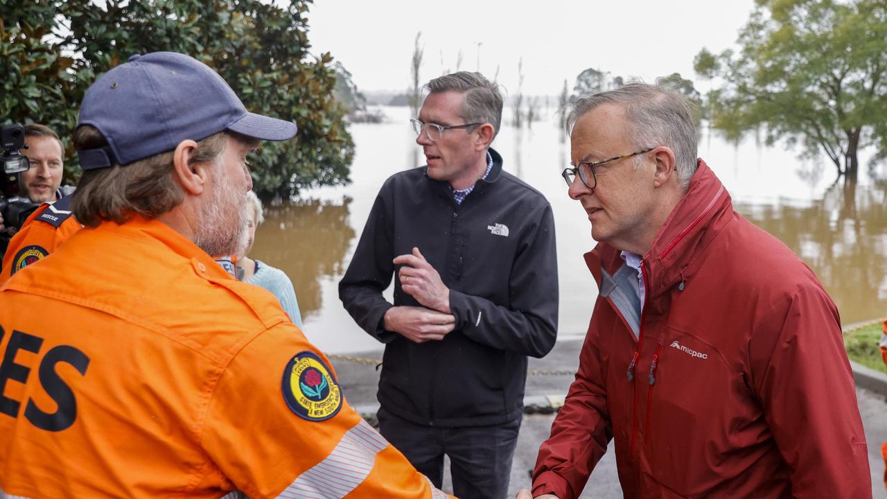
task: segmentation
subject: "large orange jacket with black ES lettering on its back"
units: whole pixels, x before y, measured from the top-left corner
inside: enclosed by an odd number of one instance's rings
[[[0,327],[0,497],[446,497],[271,293],[157,220],[12,276]]]

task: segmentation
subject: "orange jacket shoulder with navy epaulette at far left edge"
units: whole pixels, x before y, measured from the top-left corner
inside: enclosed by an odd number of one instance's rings
[[[0,285],[13,273],[59,249],[62,242],[80,229],[81,225],[71,214],[71,196],[41,204],[12,236],[3,257]]]

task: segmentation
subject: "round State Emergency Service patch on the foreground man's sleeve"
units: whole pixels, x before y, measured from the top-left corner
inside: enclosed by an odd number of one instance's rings
[[[302,419],[324,421],[341,409],[339,382],[314,352],[298,352],[287,362],[281,388],[287,406]]]

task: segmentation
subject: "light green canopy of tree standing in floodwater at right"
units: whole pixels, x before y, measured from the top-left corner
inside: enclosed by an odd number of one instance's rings
[[[765,129],[807,154],[824,151],[855,178],[860,148],[887,151],[887,4],[883,0],[757,0],[738,52],[696,58],[718,75],[712,122],[738,139]]]

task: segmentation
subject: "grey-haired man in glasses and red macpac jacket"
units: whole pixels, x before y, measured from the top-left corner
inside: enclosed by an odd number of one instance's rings
[[[632,83],[579,99],[568,130],[600,295],[518,497],[577,497],[610,440],[626,498],[871,497],[836,306],[734,211],[686,100]]]

